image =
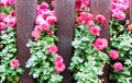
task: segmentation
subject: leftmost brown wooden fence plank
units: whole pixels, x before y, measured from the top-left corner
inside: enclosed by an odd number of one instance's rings
[[[36,0],[16,0],[16,33],[18,33],[18,58],[24,74],[21,76],[20,83],[34,83],[32,76],[29,75],[29,69],[25,62],[30,58],[30,50],[26,43],[31,37],[34,27]]]

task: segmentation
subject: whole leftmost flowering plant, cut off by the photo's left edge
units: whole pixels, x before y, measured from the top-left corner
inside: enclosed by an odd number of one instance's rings
[[[18,83],[23,73],[16,59],[14,3],[13,0],[0,1],[0,83]]]

